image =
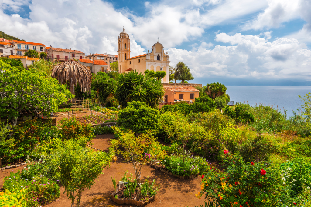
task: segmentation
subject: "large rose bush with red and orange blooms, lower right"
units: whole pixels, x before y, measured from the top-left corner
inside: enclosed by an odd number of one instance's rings
[[[281,170],[266,161],[244,163],[241,156],[230,152],[223,156],[226,169],[210,168],[202,176],[201,192],[196,195],[212,199],[218,205],[283,206],[290,203],[289,188],[282,185]]]

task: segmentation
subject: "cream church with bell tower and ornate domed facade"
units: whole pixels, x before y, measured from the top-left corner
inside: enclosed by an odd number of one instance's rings
[[[169,56],[164,53],[163,45],[158,41],[152,46],[151,52],[131,57],[130,39],[124,31],[118,37],[119,73],[136,70],[144,73],[145,70],[165,71],[162,83],[169,83]]]

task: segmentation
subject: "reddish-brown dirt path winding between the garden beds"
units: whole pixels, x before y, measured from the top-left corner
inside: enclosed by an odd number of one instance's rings
[[[95,139],[93,139],[93,147],[101,150],[107,150],[109,143],[108,141],[113,138],[113,134],[105,134],[98,135]],[[23,167],[9,169],[0,171],[0,188],[3,187],[3,178],[8,176],[12,170],[14,172],[17,169],[22,169]],[[82,203],[81,207],[87,206],[124,206],[130,207],[133,205],[118,205],[111,200],[111,193],[114,191],[114,187],[112,185],[111,176],[115,175],[115,178],[119,180],[123,174],[128,170],[129,173],[134,173],[132,166],[127,163],[123,163],[120,159],[117,162],[113,162],[110,164],[110,167],[103,170],[104,174],[101,174],[98,180],[95,180],[95,185],[91,187],[91,190],[86,189],[82,193]],[[156,195],[156,199],[148,204],[147,206],[157,206],[157,207],[179,207],[179,206],[200,206],[204,203],[204,199],[198,199],[194,196],[198,191],[200,191],[200,183],[201,178],[198,177],[196,179],[191,180],[182,180],[174,178],[173,176],[169,176],[165,173],[157,171],[150,166],[142,167],[142,181],[147,179],[149,176],[149,181],[155,179],[157,185],[160,186],[160,190]],[[61,196],[46,205],[47,207],[70,207],[71,200],[69,200],[66,196],[66,193],[63,194],[64,188],[61,187]]]

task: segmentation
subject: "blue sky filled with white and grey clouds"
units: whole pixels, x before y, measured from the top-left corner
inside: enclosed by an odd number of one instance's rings
[[[0,30],[26,41],[118,54],[123,30],[131,57],[157,41],[192,83],[311,83],[309,0],[0,0]]]

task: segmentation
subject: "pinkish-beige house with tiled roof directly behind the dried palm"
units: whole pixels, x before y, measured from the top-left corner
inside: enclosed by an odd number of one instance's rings
[[[84,59],[85,56],[85,54],[80,50],[56,48],[51,47],[51,45],[48,49],[47,54],[52,62],[63,62],[72,59]]]

